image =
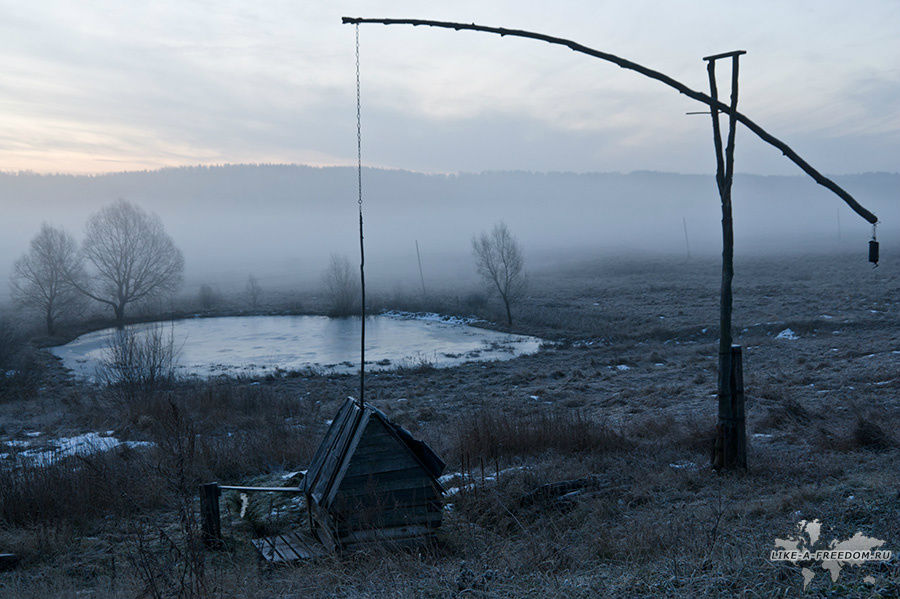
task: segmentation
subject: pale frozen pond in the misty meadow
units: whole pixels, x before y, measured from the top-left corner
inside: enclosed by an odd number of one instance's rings
[[[257,376],[316,369],[355,372],[359,318],[234,316],[132,325],[136,332],[163,327],[178,351],[178,371],[201,377]],[[95,331],[51,348],[79,378],[90,379],[115,329]],[[534,353],[541,340],[469,326],[458,319],[402,313],[366,319],[366,369],[390,370],[424,363],[455,366],[476,360],[508,360]]]

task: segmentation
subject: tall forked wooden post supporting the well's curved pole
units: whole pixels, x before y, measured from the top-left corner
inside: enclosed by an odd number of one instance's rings
[[[719,373],[718,402],[719,418],[716,426],[716,443],[713,452],[713,467],[739,468],[746,466],[746,439],[743,425],[737,426],[738,414],[743,419],[743,389],[740,394],[735,387],[735,366],[732,350],[731,313],[732,280],[734,279],[734,227],[731,216],[731,184],[734,180],[734,138],[737,128],[738,101],[738,60],[745,52],[738,50],[716,56],[707,56],[710,97],[714,100],[710,107],[713,123],[713,143],[716,150],[716,187],[722,200],[722,286],[719,300]],[[719,126],[719,111],[716,108],[718,89],[716,86],[716,60],[731,58],[731,111],[728,118],[728,141],[722,148],[722,132]],[[738,350],[740,356],[740,350]],[[740,367],[739,367],[740,368]],[[741,374],[742,377],[742,374]],[[741,380],[743,387],[743,380]]]

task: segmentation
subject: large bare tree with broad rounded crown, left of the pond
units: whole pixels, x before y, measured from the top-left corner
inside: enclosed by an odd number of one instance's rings
[[[125,200],[91,216],[81,251],[93,272],[89,284],[78,289],[110,306],[120,325],[128,304],[181,285],[184,257],[162,221]]]

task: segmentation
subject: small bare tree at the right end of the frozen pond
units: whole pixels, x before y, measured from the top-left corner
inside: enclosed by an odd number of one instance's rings
[[[512,305],[525,292],[525,260],[519,242],[505,223],[494,225],[490,233],[472,238],[475,267],[489,291],[496,291],[506,308],[506,321],[512,324]]]

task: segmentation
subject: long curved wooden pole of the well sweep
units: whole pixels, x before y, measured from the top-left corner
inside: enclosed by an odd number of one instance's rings
[[[646,77],[650,77],[651,79],[656,79],[657,81],[668,85],[671,88],[678,90],[680,93],[697,100],[698,102],[702,102],[711,108],[715,108],[719,112],[724,112],[725,114],[731,115],[732,110],[731,107],[727,104],[723,104],[718,100],[713,100],[708,95],[703,92],[698,92],[681,83],[680,81],[676,81],[672,79],[668,75],[660,73],[659,71],[654,71],[653,69],[648,69],[645,66],[639,65],[635,62],[631,62],[630,60],[625,60],[624,58],[620,58],[615,54],[609,54],[608,52],[601,52],[600,50],[594,50],[593,48],[588,48],[587,46],[583,46],[577,42],[573,42],[572,40],[567,40],[561,37],[553,37],[550,35],[544,35],[543,33],[535,33],[533,31],[524,31],[521,29],[506,29],[504,27],[486,27],[484,25],[476,25],[475,23],[451,23],[448,21],[427,21],[422,19],[365,19],[365,18],[356,18],[356,17],[343,17],[343,23],[380,23],[382,25],[424,25],[427,27],[442,27],[444,29],[454,29],[456,31],[459,30],[470,30],[470,31],[484,31],[486,33],[495,33],[500,36],[513,36],[513,37],[526,37],[530,39],[540,40],[542,42],[547,42],[548,44],[556,44],[559,46],[566,46],[575,52],[580,52],[582,54],[587,54],[588,56],[593,56],[594,58],[599,58],[601,60],[606,60],[613,64],[616,64],[623,69],[628,69],[630,71],[635,71],[644,75]],[[800,167],[804,173],[813,178],[813,180],[830,189],[832,192],[837,194],[844,202],[847,203],[850,208],[856,212],[858,215],[866,219],[868,222],[875,224],[878,222],[878,217],[866,210],[862,207],[862,205],[857,202],[853,196],[844,191],[837,183],[814,169],[808,162],[803,160],[796,152],[794,152],[786,143],[776,138],[774,135],[770,134],[768,131],[754,123],[747,116],[741,114],[737,110],[734,111],[735,120],[741,122],[745,127],[750,129],[753,133],[755,133],[760,139],[769,145],[775,146],[781,153],[787,156],[787,158]]]

